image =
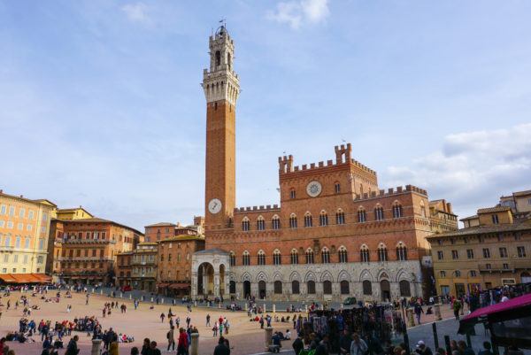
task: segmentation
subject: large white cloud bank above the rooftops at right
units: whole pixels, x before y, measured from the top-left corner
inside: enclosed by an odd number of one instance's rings
[[[447,135],[441,150],[388,173],[391,186],[412,183],[430,198],[449,199],[461,217],[472,214],[503,194],[531,189],[531,123]]]

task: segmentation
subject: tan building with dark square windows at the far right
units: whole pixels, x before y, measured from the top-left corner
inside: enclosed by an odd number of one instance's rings
[[[512,208],[482,208],[465,228],[427,236],[439,295],[531,282],[531,218]]]

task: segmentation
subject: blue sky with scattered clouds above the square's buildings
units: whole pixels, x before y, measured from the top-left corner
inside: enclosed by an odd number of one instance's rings
[[[531,2],[0,0],[0,189],[143,230],[204,214],[208,36],[242,93],[238,206],[353,158],[459,217],[531,189]]]

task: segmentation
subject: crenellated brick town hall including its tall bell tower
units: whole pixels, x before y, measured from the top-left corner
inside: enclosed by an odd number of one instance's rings
[[[445,201],[430,203],[425,189],[381,189],[350,144],[309,165],[279,158],[280,205],[236,207],[235,45],[225,27],[209,44],[205,250],[193,256],[192,297],[421,296],[430,283],[426,238],[457,229],[457,217]]]

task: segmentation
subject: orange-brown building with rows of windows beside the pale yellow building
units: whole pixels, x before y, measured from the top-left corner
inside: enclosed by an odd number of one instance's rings
[[[115,282],[117,254],[133,251],[143,234],[112,220],[52,220],[54,277],[59,282]]]

